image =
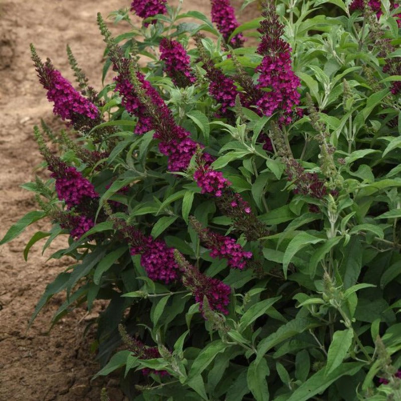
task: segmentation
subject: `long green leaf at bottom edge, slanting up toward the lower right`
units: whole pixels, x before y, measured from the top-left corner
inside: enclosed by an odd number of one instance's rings
[[[293,391],[287,401],[307,401],[316,394],[323,392],[331,383],[338,380],[341,376],[354,375],[364,365],[365,363],[362,362],[343,363],[327,376],[324,374],[325,369],[320,369]]]

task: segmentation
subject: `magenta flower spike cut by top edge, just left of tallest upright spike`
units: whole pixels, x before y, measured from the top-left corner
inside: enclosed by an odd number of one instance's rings
[[[235,17],[234,8],[230,4],[230,0],[212,0],[212,22],[216,23],[224,40],[228,42],[231,34],[240,26]],[[236,35],[231,39],[230,44],[233,47],[243,46],[243,35],[241,33]]]

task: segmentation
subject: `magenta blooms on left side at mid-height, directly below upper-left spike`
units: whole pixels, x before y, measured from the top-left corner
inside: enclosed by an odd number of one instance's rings
[[[51,166],[49,169],[52,170]],[[64,200],[67,208],[80,205],[87,198],[97,198],[93,184],[86,179],[75,167],[66,167],[62,173],[60,170],[51,174],[56,178],[56,191],[60,200]]]

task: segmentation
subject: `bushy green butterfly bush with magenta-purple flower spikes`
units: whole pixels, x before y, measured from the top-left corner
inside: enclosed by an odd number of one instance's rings
[[[106,300],[96,376],[133,400],[401,399],[397,4],[211,3],[135,0],[117,37],[98,15],[97,90],[32,46],[66,128],[34,128],[39,210],[2,243],[50,218],[25,258],[64,235],[76,261],[33,318]]]

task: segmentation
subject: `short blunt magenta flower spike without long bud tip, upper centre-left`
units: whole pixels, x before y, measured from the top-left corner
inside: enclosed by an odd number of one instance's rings
[[[164,61],[164,71],[175,85],[185,87],[196,81],[190,67],[190,58],[183,46],[171,39],[160,41],[160,60]]]

